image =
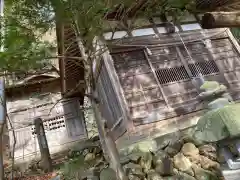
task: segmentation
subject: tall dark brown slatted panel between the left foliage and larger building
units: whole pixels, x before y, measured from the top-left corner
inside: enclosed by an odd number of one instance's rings
[[[61,77],[61,92],[67,97],[78,97],[83,104],[84,63],[77,35],[71,23],[56,23],[58,41],[59,71]]]

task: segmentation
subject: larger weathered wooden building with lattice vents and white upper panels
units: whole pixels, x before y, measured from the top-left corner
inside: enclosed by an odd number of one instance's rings
[[[204,80],[218,81],[234,100],[240,98],[240,48],[229,29],[203,30],[188,17],[167,34],[155,19],[128,31],[106,31],[100,43],[108,51],[97,66],[97,91],[117,143],[154,135],[163,120],[184,123],[204,110],[197,99]]]

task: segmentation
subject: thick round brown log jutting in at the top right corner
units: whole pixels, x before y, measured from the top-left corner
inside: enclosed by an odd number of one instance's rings
[[[240,27],[240,11],[205,13],[201,24],[204,29]]]

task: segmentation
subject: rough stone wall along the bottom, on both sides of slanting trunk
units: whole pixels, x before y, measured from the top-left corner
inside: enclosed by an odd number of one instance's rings
[[[221,180],[220,157],[214,144],[205,144],[192,138],[192,129],[145,140],[125,148],[120,163],[131,180]],[[86,164],[85,172],[77,166],[63,176],[79,179],[117,180],[115,171],[103,157],[95,142],[77,154]],[[91,164],[91,167],[89,167]]]

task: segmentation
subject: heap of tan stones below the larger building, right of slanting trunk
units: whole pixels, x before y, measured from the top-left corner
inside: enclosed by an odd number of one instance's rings
[[[195,142],[190,136],[169,136],[161,146],[147,140],[125,153],[122,164],[129,180],[221,179],[216,147]]]

